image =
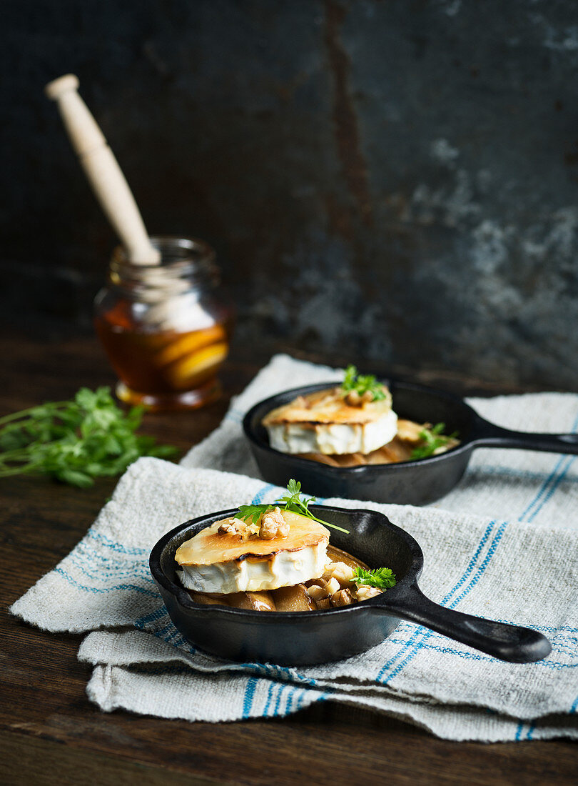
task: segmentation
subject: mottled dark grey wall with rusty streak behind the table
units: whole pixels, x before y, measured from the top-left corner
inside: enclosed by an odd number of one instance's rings
[[[578,6],[2,3],[2,319],[90,331],[115,238],[44,84],[79,75],[152,233],[203,237],[234,351],[578,390]]]

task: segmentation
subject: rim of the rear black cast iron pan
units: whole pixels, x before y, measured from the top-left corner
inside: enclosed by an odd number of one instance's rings
[[[439,398],[447,399],[448,402],[454,404],[455,406],[462,407],[463,410],[466,410],[471,418],[472,423],[474,423],[475,419],[478,416],[477,412],[472,409],[469,404],[466,404],[463,399],[459,399],[458,396],[453,395],[452,393],[447,393],[446,391],[438,390],[436,387],[427,387],[426,385],[419,385],[413,382],[403,382],[401,380],[395,380],[393,377],[389,378],[389,382],[393,384],[403,385],[404,387],[412,388],[414,391],[418,391],[419,393],[433,393],[433,395],[437,395]],[[276,395],[269,396],[268,399],[262,399],[262,401],[257,402],[254,406],[251,407],[251,410],[247,412],[245,417],[243,417],[243,432],[245,432],[245,436],[247,439],[253,443],[254,445],[258,446],[262,450],[269,451],[269,453],[273,453],[276,456],[284,456],[287,459],[295,462],[297,467],[302,466],[303,468],[311,468],[312,459],[310,458],[302,458],[297,454],[291,453],[283,453],[281,450],[275,450],[275,448],[271,447],[268,442],[265,442],[254,433],[253,425],[251,421],[253,420],[254,413],[261,409],[265,404],[271,402],[271,410],[275,409],[275,404],[273,402],[275,399],[279,399],[280,396],[285,396],[289,393],[294,397],[298,395],[305,395],[307,393],[313,393],[317,390],[323,390],[326,387],[335,387],[335,381],[333,383],[320,383],[314,385],[302,385],[301,387],[291,387],[287,391],[282,391],[280,393],[276,393]],[[269,410],[270,411],[270,410]],[[459,445],[450,448],[450,450],[446,450],[445,453],[438,454],[437,456],[428,456],[426,458],[415,458],[413,461],[397,461],[394,464],[368,464],[361,467],[332,467],[328,464],[322,464],[320,461],[313,462],[314,464],[319,465],[323,468],[322,472],[328,472],[330,475],[360,475],[360,474],[379,474],[379,472],[401,472],[406,467],[416,467],[418,465],[429,464],[432,465],[434,463],[439,463],[440,461],[444,461],[444,459],[450,455],[455,455],[459,453],[464,453],[466,450],[470,450],[470,446],[472,443],[475,442],[475,438],[470,437],[470,439],[460,440]]]

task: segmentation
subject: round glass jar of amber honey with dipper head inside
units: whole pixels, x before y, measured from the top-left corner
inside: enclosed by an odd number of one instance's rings
[[[158,264],[138,265],[115,248],[94,325],[119,376],[116,395],[149,410],[203,406],[221,391],[233,308],[207,243],[152,237]]]

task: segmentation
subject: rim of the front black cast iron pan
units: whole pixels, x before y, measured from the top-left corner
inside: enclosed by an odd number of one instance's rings
[[[386,596],[387,593],[393,592],[397,595],[400,591],[403,592],[405,586],[411,585],[417,580],[421,568],[423,567],[423,551],[419,543],[415,540],[415,538],[412,538],[412,535],[410,535],[408,532],[402,530],[401,527],[397,527],[397,524],[391,523],[387,516],[384,516],[383,513],[379,512],[379,510],[367,510],[362,508],[337,508],[333,505],[311,505],[311,507],[318,509],[320,512],[323,512],[324,510],[330,510],[340,513],[362,513],[364,515],[370,513],[371,516],[378,516],[380,520],[383,520],[382,526],[393,529],[406,542],[410,549],[410,553],[412,554],[412,564],[409,567],[408,572],[404,575],[404,578],[401,578],[398,582],[396,582],[396,585],[391,587],[391,589],[386,590],[386,593],[384,593]],[[207,615],[232,614],[234,616],[247,617],[248,619],[260,619],[265,623],[268,620],[273,622],[273,620],[278,619],[294,619],[296,621],[305,619],[310,620],[312,619],[312,614],[353,614],[355,612],[362,611],[364,608],[367,609],[369,606],[379,606],[383,608],[384,602],[381,600],[382,595],[371,597],[368,598],[367,601],[360,601],[349,606],[342,606],[341,608],[316,608],[313,612],[258,612],[248,608],[231,608],[229,606],[195,603],[184,587],[179,586],[175,582],[171,581],[170,578],[166,575],[166,573],[163,571],[163,568],[161,567],[160,557],[170,541],[177,534],[180,534],[183,530],[188,529],[188,527],[192,527],[195,524],[199,524],[208,520],[212,520],[210,523],[213,523],[219,518],[227,518],[228,516],[232,516],[232,514],[238,512],[239,508],[229,508],[228,510],[219,510],[214,513],[206,513],[204,516],[197,516],[196,519],[185,521],[185,523],[179,524],[178,527],[174,527],[173,530],[164,534],[163,537],[160,538],[160,540],[157,541],[152,547],[151,555],[148,558],[148,566],[150,567],[152,576],[155,578],[155,581],[159,582],[159,584],[162,584],[162,586],[168,592],[170,592],[171,595],[174,595],[174,597],[177,598],[177,601],[181,604],[181,606],[194,609],[195,612],[202,612],[203,614]],[[207,526],[210,526],[210,524]],[[381,603],[379,602],[380,600]],[[385,598],[385,601],[386,600],[387,597]]]

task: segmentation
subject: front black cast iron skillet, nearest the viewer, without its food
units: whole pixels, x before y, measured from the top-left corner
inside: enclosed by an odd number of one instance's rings
[[[430,601],[417,584],[423,569],[422,549],[382,513],[325,505],[312,509],[316,516],[349,530],[349,534],[332,531],[333,545],[370,567],[391,567],[396,586],[359,604],[316,612],[253,612],[197,604],[178,582],[174,554],[182,542],[238,510],[200,516],[164,535],[149,560],[170,619],[192,645],[242,662],[327,663],[379,644],[401,619],[408,619],[512,663],[531,663],[551,652],[550,642],[535,630],[454,612]]]

